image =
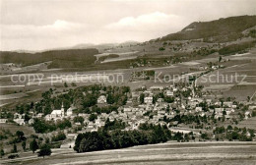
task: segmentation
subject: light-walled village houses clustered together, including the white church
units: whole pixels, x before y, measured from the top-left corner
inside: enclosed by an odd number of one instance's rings
[[[74,106],[71,106],[66,111],[62,105],[61,109],[53,110],[50,114],[43,116],[42,113],[38,113],[32,116],[32,119],[29,120],[29,124],[32,125],[33,118],[44,118],[46,121],[57,121],[63,119],[73,119],[76,116],[80,116],[84,118],[84,123],[74,123],[75,125],[81,126],[83,125],[83,129],[81,132],[94,132],[97,131],[98,128],[105,125],[105,121],[108,119],[110,122],[114,120],[120,120],[126,123],[125,130],[135,130],[138,129],[140,124],[142,123],[152,123],[152,124],[160,124],[165,125],[165,119],[173,119],[177,114],[182,115],[199,115],[201,117],[204,116],[212,116],[215,113],[215,118],[225,118],[226,120],[237,117],[237,105],[232,101],[221,102],[219,100],[212,100],[201,98],[197,96],[192,90],[192,93],[187,98],[175,97],[175,92],[178,90],[186,90],[191,88],[191,86],[151,86],[149,89],[136,90],[131,93],[131,97],[128,99],[126,105],[118,108],[117,112],[112,111],[109,114],[101,113],[97,115],[96,120],[90,121],[90,114],[86,113],[73,113],[75,109]],[[163,98],[158,98],[158,100],[154,101],[154,95],[162,92],[164,96],[174,98],[174,101],[171,103],[164,102]],[[140,95],[144,93],[144,102],[140,103]],[[97,98],[97,104],[105,105],[106,96],[100,95]],[[202,104],[207,104],[208,111],[205,111]],[[201,105],[201,106],[200,106]],[[178,111],[176,111],[178,110]],[[245,119],[247,119],[250,115],[251,111],[245,112]],[[4,119],[1,119],[0,122],[6,122]],[[19,125],[25,125],[25,115],[16,113],[14,115],[14,122]],[[172,123],[168,123],[167,125],[177,126],[178,122],[174,121]]]

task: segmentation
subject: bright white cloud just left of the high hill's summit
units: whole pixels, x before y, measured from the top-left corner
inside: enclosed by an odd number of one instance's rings
[[[188,22],[184,17],[154,12],[138,17],[122,18],[116,23],[106,25],[105,29],[115,33],[112,38],[116,40],[125,38],[145,41],[176,32],[187,25]]]

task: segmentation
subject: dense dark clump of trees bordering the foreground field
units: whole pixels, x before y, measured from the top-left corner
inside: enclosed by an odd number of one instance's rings
[[[97,132],[79,134],[74,149],[77,152],[116,149],[165,142],[170,138],[171,133],[167,127],[160,125],[143,124],[139,130],[133,131],[107,131],[101,128]]]

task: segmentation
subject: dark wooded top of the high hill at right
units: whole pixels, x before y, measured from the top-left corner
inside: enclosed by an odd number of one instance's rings
[[[243,31],[256,26],[256,16],[238,16],[211,22],[195,22],[181,31],[159,38],[166,40],[203,39],[206,42],[227,42],[243,36]]]

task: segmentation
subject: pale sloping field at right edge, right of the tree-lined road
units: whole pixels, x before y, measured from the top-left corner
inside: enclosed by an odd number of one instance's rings
[[[239,60],[236,58],[239,56]],[[198,79],[205,89],[217,91],[224,97],[235,96],[236,99],[246,100],[247,96],[254,97],[256,91],[256,49],[249,53],[225,56],[230,61],[219,69]],[[205,81],[207,80],[207,81]]]

